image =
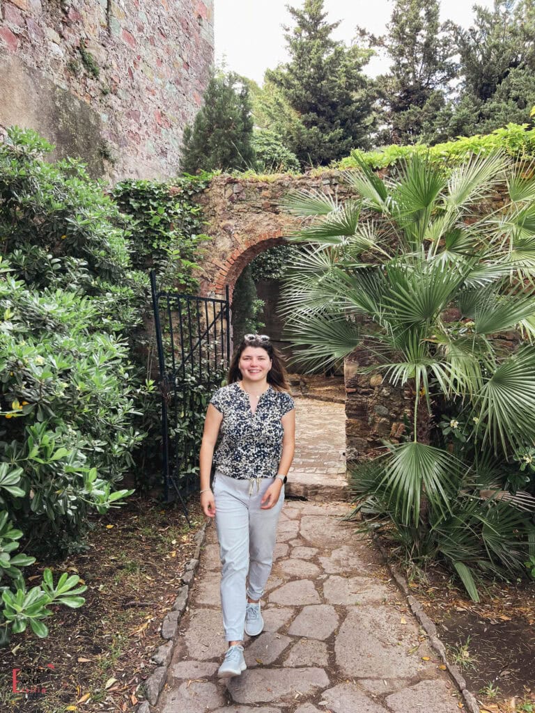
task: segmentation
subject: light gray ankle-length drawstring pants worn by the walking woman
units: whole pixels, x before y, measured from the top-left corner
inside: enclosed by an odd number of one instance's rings
[[[260,501],[272,482],[273,478],[259,478],[251,483],[215,471],[215,527],[220,548],[221,607],[227,641],[243,639],[246,595],[255,601],[260,599],[271,572],[277,521],[284,503],[282,486],[275,506],[270,510],[260,509]]]

